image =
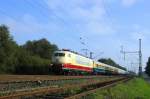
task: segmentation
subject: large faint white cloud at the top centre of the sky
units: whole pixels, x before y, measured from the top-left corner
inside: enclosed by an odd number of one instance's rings
[[[50,12],[78,32],[89,35],[114,33],[102,0],[45,0]],[[69,27],[68,27],[69,28]]]

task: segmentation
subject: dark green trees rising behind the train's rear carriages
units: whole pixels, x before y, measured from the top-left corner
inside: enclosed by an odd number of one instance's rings
[[[126,68],[121,67],[119,64],[117,64],[115,61],[113,61],[111,58],[105,59],[105,58],[101,58],[98,60],[99,62],[114,66],[114,67],[118,67],[120,69],[126,70]]]

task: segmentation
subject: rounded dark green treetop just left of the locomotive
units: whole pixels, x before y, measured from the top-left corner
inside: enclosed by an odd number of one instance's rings
[[[38,55],[45,59],[51,59],[52,53],[55,50],[58,50],[58,47],[55,44],[51,44],[46,39],[27,41],[26,44],[23,45],[23,48],[32,55]]]

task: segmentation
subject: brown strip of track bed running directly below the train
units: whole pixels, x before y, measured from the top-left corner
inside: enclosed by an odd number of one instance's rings
[[[7,83],[21,83],[21,82],[34,82],[34,81],[47,81],[47,80],[65,80],[65,79],[79,79],[79,78],[94,78],[94,77],[113,77],[113,76],[104,76],[104,75],[99,75],[99,76],[32,76],[30,77],[26,75],[21,76],[16,76],[14,77],[13,75],[0,75],[0,84],[7,84]],[[7,78],[8,77],[8,78]]]

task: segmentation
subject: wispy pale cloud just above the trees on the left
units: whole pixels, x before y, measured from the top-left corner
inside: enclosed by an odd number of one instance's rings
[[[11,33],[17,34],[40,34],[40,33],[52,33],[52,31],[57,32],[60,28],[55,23],[40,23],[34,16],[30,14],[24,14],[22,18],[15,20],[9,17],[5,17],[4,20],[0,22],[1,24],[6,24],[10,27]]]

